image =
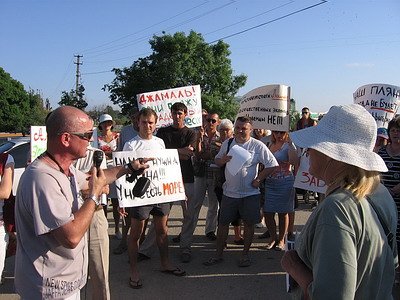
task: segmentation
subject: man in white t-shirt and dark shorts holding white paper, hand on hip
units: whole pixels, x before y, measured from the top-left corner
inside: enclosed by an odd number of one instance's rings
[[[217,250],[214,257],[204,262],[211,266],[223,261],[222,255],[228,237],[229,224],[238,216],[244,223],[244,247],[239,260],[240,267],[248,267],[251,260],[248,255],[254,236],[254,225],[260,222],[260,182],[274,171],[278,163],[267,146],[251,137],[252,121],[248,117],[238,117],[235,122],[233,139],[227,153],[228,141],[226,140],[218,154],[215,163],[220,167],[227,164],[235,153],[235,147],[240,147],[250,154],[250,158],[236,174],[225,168],[226,181],[223,185],[220,217],[217,231]],[[257,166],[262,163],[265,168],[257,175]]]

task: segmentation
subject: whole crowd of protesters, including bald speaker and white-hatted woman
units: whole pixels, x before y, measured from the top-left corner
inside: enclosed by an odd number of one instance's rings
[[[267,229],[265,249],[285,250],[286,241],[294,239],[294,178],[302,151],[308,151],[310,173],[323,179],[328,190],[296,238],[296,250],[282,258],[283,269],[298,284],[296,293],[304,299],[391,298],[400,246],[400,119],[392,120],[384,135],[359,105],[332,107],[318,125],[305,107],[295,132],[289,133],[254,128],[248,117],[221,120],[218,113],[205,110],[202,126],[191,129],[185,125],[187,114],[185,104],[173,104],[172,124],[156,130],[156,112],[136,109],[130,113],[132,123],[119,134],[113,132],[112,117],[102,115],[98,145],[108,160],[102,168],[92,165],[94,149],[88,146],[94,122],[87,114],[63,106],[48,116],[47,150],[27,167],[16,195],[15,288],[22,299],[80,299],[87,282],[93,286],[92,299],[110,299],[102,197],[112,201],[115,236],[120,239],[113,253],[128,252],[131,288],[143,286],[137,263],[149,259],[154,246],[162,272],[186,275],[168,256],[167,223],[173,203],[118,207],[113,182],[140,174],[152,158],[113,167],[112,152],[143,149],[178,151],[186,198],[180,201],[181,233],[173,242],[179,243],[182,263],[195,254],[193,235],[208,200],[204,235],[215,241],[216,252],[203,263],[207,267],[224,262],[231,224],[235,244],[243,245],[239,267],[253,263],[250,248],[259,224]],[[236,174],[226,170],[233,147],[250,153]],[[11,156],[2,163],[0,199],[11,193],[13,166]],[[307,191],[298,192],[308,197]],[[120,224],[120,216],[125,224]],[[2,272],[8,241],[2,221],[0,237]]]

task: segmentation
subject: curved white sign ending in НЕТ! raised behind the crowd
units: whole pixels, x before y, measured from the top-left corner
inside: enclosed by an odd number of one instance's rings
[[[290,87],[282,84],[258,87],[242,97],[237,117],[247,116],[253,128],[289,131]]]

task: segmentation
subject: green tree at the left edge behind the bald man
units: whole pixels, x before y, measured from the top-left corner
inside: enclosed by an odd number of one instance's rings
[[[0,131],[25,133],[31,125],[44,125],[46,114],[40,94],[26,92],[0,67]]]

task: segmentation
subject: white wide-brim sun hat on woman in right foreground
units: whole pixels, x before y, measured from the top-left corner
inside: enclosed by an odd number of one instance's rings
[[[317,126],[290,133],[293,143],[301,148],[367,171],[387,172],[383,159],[373,152],[376,136],[375,119],[359,104],[332,106]]]

